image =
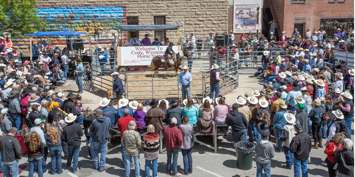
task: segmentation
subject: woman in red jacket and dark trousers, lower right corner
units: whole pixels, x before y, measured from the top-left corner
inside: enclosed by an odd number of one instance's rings
[[[333,142],[327,144],[326,150],[324,150],[324,154],[327,154],[326,160],[328,167],[329,177],[337,176],[337,170],[333,170],[335,163],[333,162],[335,154],[343,149],[342,141],[345,138],[343,133],[336,133],[333,136]]]

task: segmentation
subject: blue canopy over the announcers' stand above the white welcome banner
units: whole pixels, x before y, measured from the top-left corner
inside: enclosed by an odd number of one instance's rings
[[[118,29],[124,32],[128,31],[161,31],[177,30],[182,24],[162,24],[162,25],[116,25]]]

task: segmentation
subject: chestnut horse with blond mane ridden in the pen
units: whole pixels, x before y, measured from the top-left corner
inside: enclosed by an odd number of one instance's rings
[[[177,53],[175,55],[175,58],[176,58],[176,62],[175,62],[175,65],[174,65],[175,73],[178,73],[178,69],[182,70],[180,68],[180,65],[182,64],[182,58],[184,58],[184,56],[189,58],[189,59],[191,59],[191,55],[190,55],[189,52],[187,52],[186,49],[184,51],[180,51],[179,53]],[[161,66],[163,66],[166,69],[169,69],[169,68],[172,69],[172,67],[168,63],[168,59],[165,59],[165,62],[162,62],[162,57],[163,56],[161,56],[161,55],[154,57],[152,59],[151,65],[150,65],[148,70],[153,70],[154,73],[158,73],[158,69]]]

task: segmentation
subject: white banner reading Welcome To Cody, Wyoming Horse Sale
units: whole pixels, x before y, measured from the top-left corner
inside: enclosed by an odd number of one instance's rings
[[[152,59],[164,55],[168,46],[132,46],[121,47],[122,66],[144,66],[150,65]],[[173,51],[178,53],[178,46],[173,46]]]

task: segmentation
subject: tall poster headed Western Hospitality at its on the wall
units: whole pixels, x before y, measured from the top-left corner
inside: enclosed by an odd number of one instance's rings
[[[234,0],[234,33],[256,33],[257,1],[260,0]]]

